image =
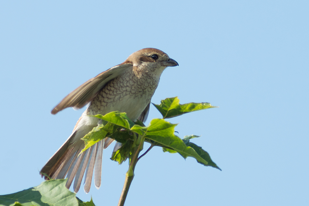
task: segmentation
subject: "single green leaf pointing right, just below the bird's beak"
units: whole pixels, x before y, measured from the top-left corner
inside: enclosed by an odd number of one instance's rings
[[[188,112],[198,111],[202,109],[214,108],[210,103],[202,102],[202,103],[187,103],[187,104],[179,104],[178,97],[167,98],[161,100],[161,103],[154,104],[152,103],[162,114],[163,119],[176,117],[183,115]]]

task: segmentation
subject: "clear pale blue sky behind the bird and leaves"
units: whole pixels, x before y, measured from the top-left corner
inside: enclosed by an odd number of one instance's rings
[[[83,82],[146,47],[179,63],[152,98],[219,108],[174,119],[178,136],[222,171],[154,148],[126,205],[309,205],[308,1],[1,1],[0,194],[39,185],[39,170],[84,108],[51,109]],[[149,121],[160,118],[150,107]],[[146,145],[147,147],[148,145]],[[128,162],[104,150],[99,190],[116,205]]]

